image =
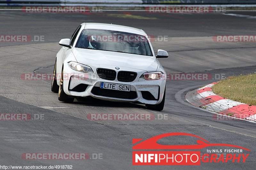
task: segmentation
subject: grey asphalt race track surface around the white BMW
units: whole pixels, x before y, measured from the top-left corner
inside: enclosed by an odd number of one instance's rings
[[[73,169],[252,169],[256,163],[256,124],[243,120],[216,120],[213,113],[193,107],[185,94],[224,77],[256,71],[255,42],[214,42],[215,35],[255,35],[256,12],[210,14],[148,14],[146,12],[23,13],[0,11],[1,35],[44,36],[44,41],[0,42],[0,113],[44,115],[39,120],[0,121],[1,165],[73,165]],[[22,80],[21,74],[51,74],[62,38],[69,38],[83,22],[127,25],[148,35],[166,36],[152,42],[167,73],[207,73],[209,80],[169,80],[164,110],[144,105],[75,100],[61,103],[51,92],[51,81]],[[166,114],[167,120],[90,121],[90,113]],[[132,139],[147,139],[169,132],[185,132],[211,143],[227,143],[250,149],[245,163],[202,163],[200,166],[132,166]],[[195,143],[191,138],[161,139],[164,145]],[[207,148],[209,149],[209,148]],[[214,149],[214,148],[211,148]],[[218,148],[215,148],[218,149]],[[200,150],[206,153],[206,148]],[[22,153],[93,153],[102,159],[24,160]]]

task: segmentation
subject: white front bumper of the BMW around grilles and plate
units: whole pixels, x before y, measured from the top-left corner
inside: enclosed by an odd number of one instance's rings
[[[142,104],[159,104],[163,100],[164,95],[164,89],[165,89],[165,80],[145,80],[143,78],[139,78],[140,75],[145,73],[146,71],[139,70],[139,69],[132,69],[127,67],[120,67],[119,70],[116,70],[116,66],[109,66],[109,65],[90,65],[93,72],[89,73],[81,73],[76,70],[73,70],[70,68],[68,63],[64,63],[63,66],[63,89],[64,92],[69,96],[75,96],[75,97],[88,97],[91,96],[93,98],[101,99],[101,100],[107,100],[107,101],[114,101],[114,102],[132,102],[132,103],[142,103]],[[121,82],[117,79],[113,81],[101,79],[97,72],[97,68],[107,68],[118,71],[131,71],[136,72],[137,77],[132,82]],[[164,76],[164,75],[163,75]],[[131,85],[131,93],[132,95],[128,95],[127,93],[123,93],[119,90],[105,90],[100,89],[100,83],[101,82],[109,82],[109,83],[116,83],[116,84],[124,84],[124,85]],[[84,91],[78,92],[74,91],[78,85],[85,85]],[[94,89],[93,89],[94,88]],[[105,93],[105,91],[107,93]],[[144,92],[150,92],[152,96],[155,98],[154,100],[151,100],[152,97],[149,99],[145,99],[145,93]],[[96,93],[97,92],[97,93]],[[102,93],[103,92],[103,93]],[[112,95],[111,95],[112,93]],[[134,94],[136,93],[136,96]],[[105,96],[109,95],[109,96]],[[127,97],[128,95],[129,97]],[[111,97],[110,97],[111,96]],[[144,97],[144,98],[143,98]]]

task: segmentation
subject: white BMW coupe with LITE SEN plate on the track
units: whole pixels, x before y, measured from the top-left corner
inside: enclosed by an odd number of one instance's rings
[[[72,103],[75,97],[146,104],[163,110],[165,71],[150,38],[141,29],[100,23],[79,25],[56,55],[52,92]]]

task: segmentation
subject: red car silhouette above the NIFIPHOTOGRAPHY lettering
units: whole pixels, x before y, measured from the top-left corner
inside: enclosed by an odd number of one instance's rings
[[[165,138],[165,137],[169,137],[169,136],[192,136],[192,137],[196,137],[198,138],[197,145],[161,145],[158,144],[157,141],[161,138]],[[246,151],[251,151],[250,149],[241,147],[241,146],[237,146],[237,145],[230,145],[230,144],[211,144],[209,141],[193,135],[193,134],[189,134],[189,133],[165,133],[165,134],[161,134],[161,135],[157,135],[154,136],[152,138],[149,138],[147,140],[144,140],[142,142],[140,142],[141,140],[143,140],[142,138],[140,139],[132,139],[132,144],[133,145],[132,149],[134,150],[144,150],[144,149],[148,149],[148,150],[160,150],[160,149],[202,149],[205,147],[210,147],[210,146],[228,146],[228,147],[235,147],[235,148],[240,148],[240,149],[244,149]],[[140,142],[140,143],[138,143]],[[136,144],[138,143],[138,144]]]

